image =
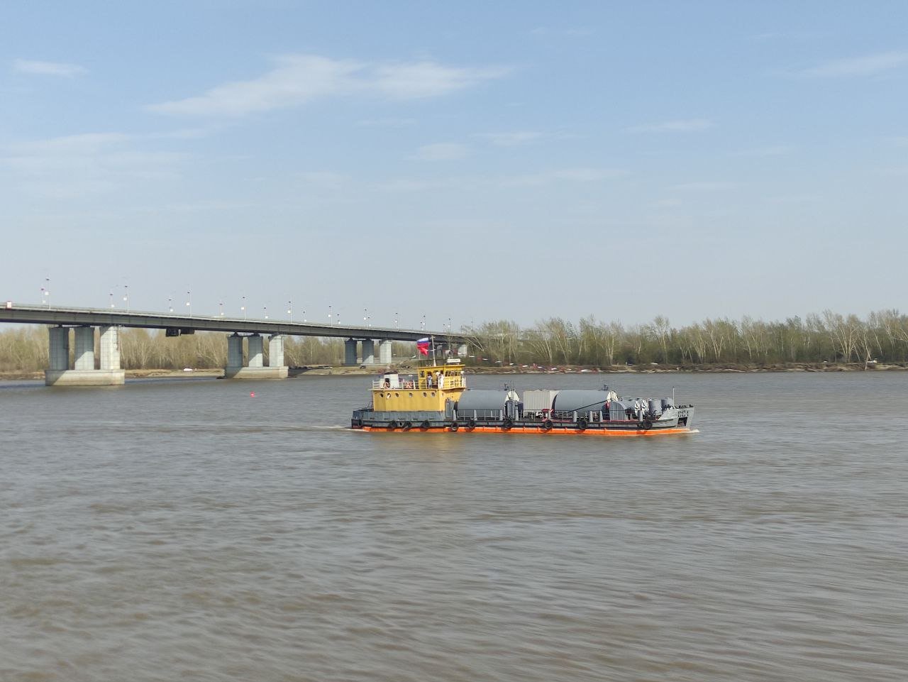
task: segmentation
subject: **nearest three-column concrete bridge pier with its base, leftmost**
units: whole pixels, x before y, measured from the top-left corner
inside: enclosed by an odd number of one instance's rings
[[[126,372],[120,369],[116,327],[104,327],[101,336],[101,369],[94,369],[94,327],[75,328],[75,363],[69,369],[69,329],[50,328],[50,352],[44,371],[46,386],[119,386]]]

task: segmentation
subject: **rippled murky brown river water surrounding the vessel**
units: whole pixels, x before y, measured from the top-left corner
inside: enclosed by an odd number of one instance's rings
[[[345,430],[367,377],[0,384],[0,680],[908,678],[908,374],[603,376],[699,433]]]

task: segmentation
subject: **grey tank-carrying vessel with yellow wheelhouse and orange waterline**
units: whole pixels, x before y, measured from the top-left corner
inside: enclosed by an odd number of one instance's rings
[[[467,388],[459,360],[433,362],[418,374],[388,371],[372,380],[371,404],[354,410],[350,428],[365,431],[541,433],[656,436],[691,433],[692,405],[674,398],[618,397],[600,390]]]

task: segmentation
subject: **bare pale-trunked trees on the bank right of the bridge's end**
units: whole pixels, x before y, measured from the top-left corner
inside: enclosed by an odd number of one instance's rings
[[[674,327],[664,316],[625,327],[583,318],[552,317],[533,329],[512,321],[470,329],[482,356],[496,364],[612,367],[627,364],[746,364],[908,361],[908,316],[898,311],[857,315],[833,311],[785,321],[706,319]]]

